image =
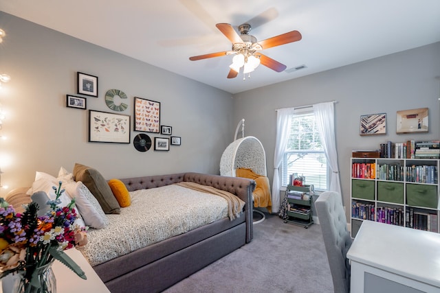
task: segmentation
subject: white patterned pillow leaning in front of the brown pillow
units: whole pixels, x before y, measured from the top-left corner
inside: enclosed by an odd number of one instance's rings
[[[67,194],[71,198],[75,198],[76,207],[87,226],[100,229],[109,224],[107,215],[102,211],[98,200],[81,181],[71,181],[66,183],[64,187]]]

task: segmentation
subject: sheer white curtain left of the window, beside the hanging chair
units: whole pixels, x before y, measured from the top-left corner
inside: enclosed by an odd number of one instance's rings
[[[276,143],[274,154],[274,181],[272,183],[272,213],[280,210],[280,167],[283,163],[283,155],[289,139],[289,127],[292,121],[294,108],[283,108],[276,110]]]

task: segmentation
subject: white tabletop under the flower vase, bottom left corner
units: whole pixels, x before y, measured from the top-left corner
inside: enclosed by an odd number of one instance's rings
[[[107,287],[102,283],[98,274],[89,265],[83,254],[75,248],[65,250],[65,253],[71,257],[78,266],[85,272],[87,280],[81,279],[72,270],[67,268],[60,261],[54,261],[52,270],[54,270],[56,278],[56,292],[58,293],[78,293],[78,292],[94,292],[94,293],[110,293]],[[0,293],[3,292],[0,279]]]

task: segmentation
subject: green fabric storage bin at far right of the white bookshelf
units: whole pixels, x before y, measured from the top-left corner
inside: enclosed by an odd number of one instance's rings
[[[437,209],[437,185],[407,184],[406,204]]]

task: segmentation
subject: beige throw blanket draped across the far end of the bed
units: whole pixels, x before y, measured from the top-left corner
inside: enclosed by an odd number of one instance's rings
[[[221,189],[217,189],[212,186],[201,185],[193,182],[179,182],[175,183],[176,185],[180,185],[182,187],[194,189],[197,191],[203,191],[207,194],[214,194],[216,196],[221,196],[225,200],[228,201],[228,216],[230,220],[234,220],[235,218],[240,218],[240,213],[243,211],[243,207],[245,206],[245,202],[241,200],[238,196],[234,196],[228,191],[224,191]]]

